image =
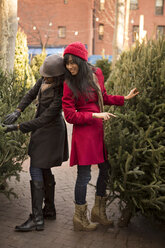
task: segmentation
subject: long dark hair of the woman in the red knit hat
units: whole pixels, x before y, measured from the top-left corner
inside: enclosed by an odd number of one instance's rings
[[[64,55],[64,65],[68,64],[69,55],[72,57],[72,60],[75,64],[78,65],[78,73],[73,76],[67,69],[65,73],[65,80],[69,88],[72,90],[73,95],[77,98],[80,94],[90,98],[91,88],[98,92],[99,88],[94,82],[93,73],[96,70],[95,67],[90,65],[87,61],[74,56],[72,54]]]

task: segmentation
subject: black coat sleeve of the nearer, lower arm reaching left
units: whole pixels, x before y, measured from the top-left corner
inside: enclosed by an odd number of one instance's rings
[[[38,128],[50,123],[56,116],[62,112],[62,96],[55,96],[53,102],[48,108],[38,117],[33,120],[20,124],[20,130],[23,133],[35,131]]]

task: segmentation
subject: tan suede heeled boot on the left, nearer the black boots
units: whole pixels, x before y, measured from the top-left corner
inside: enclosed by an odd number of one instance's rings
[[[73,216],[73,225],[75,231],[94,231],[97,224],[90,223],[87,217],[87,204],[75,204],[75,214]]]

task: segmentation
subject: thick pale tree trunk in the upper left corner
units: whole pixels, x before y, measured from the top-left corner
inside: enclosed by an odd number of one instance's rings
[[[13,70],[17,25],[17,0],[0,0],[0,67],[3,71]]]

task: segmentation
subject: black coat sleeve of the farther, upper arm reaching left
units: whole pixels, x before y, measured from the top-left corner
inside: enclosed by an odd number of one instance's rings
[[[30,89],[27,94],[22,98],[21,102],[17,106],[18,109],[21,109],[21,112],[24,111],[24,109],[29,106],[34,99],[36,99],[39,89],[42,84],[42,78],[40,78],[37,83],[33,86],[32,89]]]

